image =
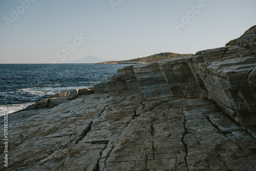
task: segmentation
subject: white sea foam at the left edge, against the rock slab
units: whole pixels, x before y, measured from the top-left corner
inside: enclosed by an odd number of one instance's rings
[[[9,104],[9,105],[0,105],[0,116],[5,114],[11,114],[19,110],[25,109],[28,105],[33,103],[22,103],[22,104]]]

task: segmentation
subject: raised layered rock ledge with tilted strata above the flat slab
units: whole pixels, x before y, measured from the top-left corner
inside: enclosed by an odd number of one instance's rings
[[[208,49],[191,57],[125,67],[100,85],[96,93],[140,93],[145,100],[209,98],[238,123],[256,124],[256,55],[244,47]]]

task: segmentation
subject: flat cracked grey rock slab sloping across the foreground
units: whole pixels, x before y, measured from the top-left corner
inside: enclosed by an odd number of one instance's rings
[[[1,170],[256,170],[253,129],[201,97],[79,96],[8,132]]]

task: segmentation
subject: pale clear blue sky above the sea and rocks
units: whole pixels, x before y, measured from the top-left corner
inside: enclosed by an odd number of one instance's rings
[[[255,9],[255,0],[1,0],[0,63],[196,53],[256,25]]]

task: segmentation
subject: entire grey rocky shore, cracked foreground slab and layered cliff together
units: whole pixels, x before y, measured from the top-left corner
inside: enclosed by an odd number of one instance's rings
[[[256,170],[255,33],[9,115],[1,170]]]

